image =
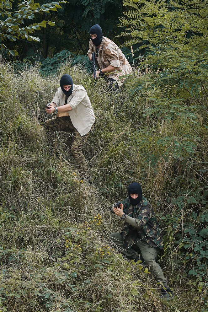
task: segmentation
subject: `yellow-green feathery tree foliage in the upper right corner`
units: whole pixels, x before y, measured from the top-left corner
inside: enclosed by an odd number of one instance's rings
[[[121,36],[130,38],[125,45],[139,44],[147,55],[140,67],[147,75],[133,82],[132,91],[147,95],[153,89],[168,100],[192,99],[208,108],[207,0],[138,0],[124,5],[133,8],[120,18],[119,26],[126,27]]]

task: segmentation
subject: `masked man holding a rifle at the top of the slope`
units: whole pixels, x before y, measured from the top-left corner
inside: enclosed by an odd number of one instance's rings
[[[92,53],[95,52],[100,67],[96,71],[96,77],[104,75],[109,81],[109,87],[122,86],[126,79],[122,76],[132,71],[125,55],[113,41],[103,37],[102,29],[98,24],[90,28],[90,37],[88,57],[92,61]]]

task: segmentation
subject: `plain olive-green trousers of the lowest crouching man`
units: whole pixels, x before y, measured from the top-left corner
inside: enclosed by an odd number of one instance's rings
[[[112,233],[109,236],[111,242],[119,249],[119,251],[131,259],[136,259],[137,251],[133,248],[126,249],[123,245],[122,234]],[[168,287],[167,279],[163,275],[163,271],[159,264],[156,262],[158,256],[157,248],[150,246],[147,242],[138,240],[134,245],[141,251],[142,258],[145,261],[145,266],[149,268],[149,271],[155,277],[158,284],[164,287]],[[133,247],[133,246],[132,246]]]

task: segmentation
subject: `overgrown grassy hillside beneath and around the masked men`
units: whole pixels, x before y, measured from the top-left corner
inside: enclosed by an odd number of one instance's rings
[[[67,134],[51,156],[43,131],[64,73],[86,88],[97,117],[84,149],[93,186],[79,176]],[[0,311],[208,311],[207,110],[186,103],[197,123],[150,114],[151,103],[129,91],[140,74],[110,94],[70,64],[43,78],[1,62]],[[164,229],[169,302],[149,272],[109,244],[122,222],[108,205],[126,197],[131,181],[142,184]]]

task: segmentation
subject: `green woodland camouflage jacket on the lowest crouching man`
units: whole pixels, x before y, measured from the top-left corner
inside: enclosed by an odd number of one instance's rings
[[[146,241],[154,248],[163,249],[163,232],[156,220],[155,212],[145,197],[136,206],[131,205],[129,198],[121,201],[123,212],[135,218],[136,226],[124,222],[122,231],[123,242],[126,248],[130,248],[138,240]]]

